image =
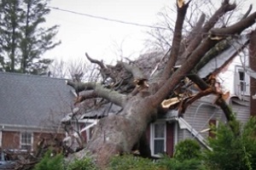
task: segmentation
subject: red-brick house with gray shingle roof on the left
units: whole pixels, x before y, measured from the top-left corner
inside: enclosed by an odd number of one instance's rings
[[[59,120],[74,95],[64,79],[0,72],[0,148],[36,150],[64,135]]]

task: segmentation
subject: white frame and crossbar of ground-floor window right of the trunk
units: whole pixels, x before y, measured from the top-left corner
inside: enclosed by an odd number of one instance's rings
[[[154,129],[155,129],[156,124],[164,125],[164,137],[160,137],[160,138],[155,138],[154,137],[154,134],[155,134]],[[151,149],[151,155],[152,156],[157,156],[157,157],[160,156],[160,153],[159,154],[154,154],[154,141],[155,140],[161,140],[161,139],[164,140],[164,150],[163,150],[163,152],[166,152],[166,122],[158,121],[158,122],[151,123],[151,125],[150,125],[150,149]]]

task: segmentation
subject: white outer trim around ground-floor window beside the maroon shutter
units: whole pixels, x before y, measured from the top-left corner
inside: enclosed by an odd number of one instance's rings
[[[163,123],[165,125],[165,136],[164,136],[164,151],[166,152],[166,122],[158,121],[150,124],[150,150],[152,156],[160,157],[159,154],[154,154],[154,124],[156,123]]]

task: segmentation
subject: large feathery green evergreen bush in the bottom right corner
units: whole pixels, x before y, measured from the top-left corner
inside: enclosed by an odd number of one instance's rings
[[[232,128],[230,128],[232,127]],[[236,119],[215,129],[216,138],[209,139],[213,151],[206,152],[210,169],[256,169],[256,119],[251,118],[244,127]]]

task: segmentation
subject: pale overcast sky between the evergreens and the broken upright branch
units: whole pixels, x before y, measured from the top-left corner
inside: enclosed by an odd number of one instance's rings
[[[255,0],[247,0],[250,2],[254,3],[255,11]],[[51,0],[49,6],[151,26],[157,21],[156,14],[174,3],[175,0]],[[44,54],[50,59],[80,59],[87,52],[93,58],[110,62],[117,59],[120,46],[125,57],[134,58],[143,50],[147,37],[144,32],[150,30],[56,9],[51,9],[46,20],[49,26],[60,26],[56,38],[61,45]]]

